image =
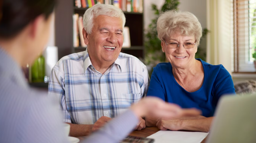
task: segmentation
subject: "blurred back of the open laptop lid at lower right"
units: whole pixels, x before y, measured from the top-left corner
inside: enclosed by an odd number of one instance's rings
[[[207,143],[256,143],[256,94],[223,96]]]

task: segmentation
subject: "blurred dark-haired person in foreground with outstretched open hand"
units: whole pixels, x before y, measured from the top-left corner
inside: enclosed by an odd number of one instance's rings
[[[33,63],[46,46],[55,0],[0,1],[0,142],[66,143],[56,105],[26,83],[21,67]],[[119,142],[141,116],[197,115],[158,98],[145,98],[83,142]]]

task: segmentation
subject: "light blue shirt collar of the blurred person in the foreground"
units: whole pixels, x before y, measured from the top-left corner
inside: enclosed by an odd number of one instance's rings
[[[23,71],[19,64],[7,52],[0,47],[0,71],[2,76],[10,78],[23,88],[28,88],[28,83],[25,80]]]

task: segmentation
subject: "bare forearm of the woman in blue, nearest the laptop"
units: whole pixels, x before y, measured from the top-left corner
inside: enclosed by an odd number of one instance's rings
[[[182,121],[182,130],[209,132],[213,118],[214,117],[202,119],[184,119]]]

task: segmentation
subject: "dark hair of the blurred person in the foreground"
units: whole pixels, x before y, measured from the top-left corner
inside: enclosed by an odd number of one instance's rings
[[[16,36],[37,16],[47,19],[56,0],[0,0],[0,37]]]

